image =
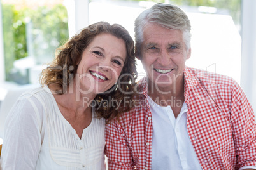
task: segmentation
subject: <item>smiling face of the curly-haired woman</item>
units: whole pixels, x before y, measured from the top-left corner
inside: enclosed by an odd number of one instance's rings
[[[124,67],[126,53],[123,39],[106,33],[94,37],[78,64],[76,87],[84,94],[110,89]]]

